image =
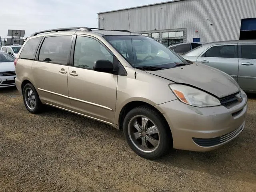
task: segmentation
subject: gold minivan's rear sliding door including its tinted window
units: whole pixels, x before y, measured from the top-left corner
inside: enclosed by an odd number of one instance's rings
[[[40,99],[47,104],[70,110],[68,99],[68,61],[72,36],[50,36],[44,39],[32,73]]]

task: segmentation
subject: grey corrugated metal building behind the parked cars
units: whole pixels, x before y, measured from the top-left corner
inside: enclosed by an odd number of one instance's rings
[[[130,30],[166,46],[256,39],[256,0],[173,0],[101,12],[98,27]]]

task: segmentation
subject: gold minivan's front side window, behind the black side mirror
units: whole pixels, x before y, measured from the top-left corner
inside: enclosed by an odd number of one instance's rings
[[[113,62],[113,56],[97,40],[78,36],[74,52],[74,66],[92,69],[96,60],[109,60]]]

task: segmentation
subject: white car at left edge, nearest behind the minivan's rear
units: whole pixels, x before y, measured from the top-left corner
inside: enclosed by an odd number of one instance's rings
[[[0,51],[0,88],[15,86],[14,57]]]

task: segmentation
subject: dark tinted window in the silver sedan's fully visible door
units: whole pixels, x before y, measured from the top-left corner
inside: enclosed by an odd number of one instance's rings
[[[234,45],[214,46],[206,51],[204,57],[237,58]]]

